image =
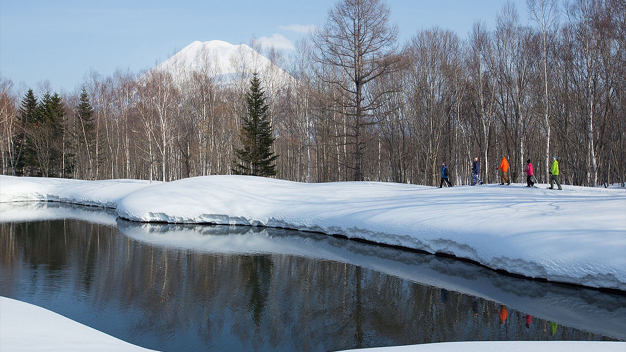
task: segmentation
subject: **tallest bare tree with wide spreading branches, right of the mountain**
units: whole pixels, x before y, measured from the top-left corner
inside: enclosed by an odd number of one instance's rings
[[[363,179],[362,129],[381,96],[388,93],[369,95],[366,85],[393,71],[399,61],[395,46],[398,29],[388,21],[389,8],[379,0],[344,0],[329,10],[324,27],[312,35],[318,49],[315,60],[341,72],[338,77],[319,73],[319,78],[336,88],[339,112],[349,120],[346,134],[354,145],[354,180]]]

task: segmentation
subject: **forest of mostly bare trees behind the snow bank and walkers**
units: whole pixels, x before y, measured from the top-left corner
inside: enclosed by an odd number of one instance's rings
[[[294,79],[260,72],[279,179],[454,184],[471,161],[513,182],[525,161],[565,184],[626,179],[626,5],[619,0],[507,4],[466,38],[441,28],[398,43],[379,0],[344,0],[289,57],[264,52]],[[349,26],[344,26],[348,23]],[[253,44],[254,46],[254,44]],[[172,73],[91,72],[75,93],[16,92],[1,79],[2,173],[75,179],[176,180],[231,173],[249,80],[217,63]],[[233,58],[233,61],[237,58]],[[248,72],[251,74],[251,72]],[[242,75],[242,78],[246,76]]]

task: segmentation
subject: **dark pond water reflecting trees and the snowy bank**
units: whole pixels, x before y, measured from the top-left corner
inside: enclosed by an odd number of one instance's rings
[[[626,339],[625,296],[452,259],[281,229],[136,224],[58,204],[23,209],[39,214],[28,221],[2,210],[2,296],[146,348]]]

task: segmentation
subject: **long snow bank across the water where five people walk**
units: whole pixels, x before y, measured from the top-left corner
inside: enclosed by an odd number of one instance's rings
[[[14,200],[116,204],[120,217],[138,222],[339,234],[453,254],[529,277],[626,291],[624,189],[519,184],[436,189],[232,175],[154,184],[1,177],[0,202]]]

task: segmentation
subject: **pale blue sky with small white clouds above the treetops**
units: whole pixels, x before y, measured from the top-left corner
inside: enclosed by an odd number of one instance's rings
[[[528,22],[525,0],[516,4]],[[336,0],[1,0],[0,75],[19,91],[48,80],[53,91],[74,91],[94,70],[139,72],[192,41],[220,39],[289,47],[321,26]],[[419,29],[439,26],[466,38],[476,20],[489,28],[506,0],[387,0],[403,44]],[[289,53],[286,49],[285,54]]]

